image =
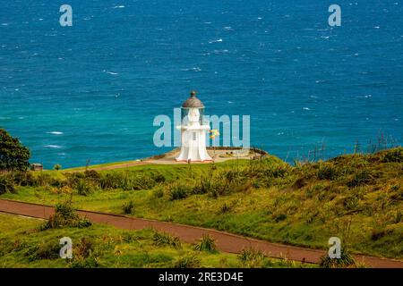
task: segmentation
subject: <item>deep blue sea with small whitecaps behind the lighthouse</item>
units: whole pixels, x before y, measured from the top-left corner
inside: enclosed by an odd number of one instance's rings
[[[165,152],[153,119],[191,89],[206,114],[251,115],[251,145],[283,159],[401,144],[403,1],[0,1],[0,127],[32,163]]]

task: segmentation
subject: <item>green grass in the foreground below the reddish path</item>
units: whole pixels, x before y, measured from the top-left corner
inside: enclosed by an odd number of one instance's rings
[[[0,214],[0,267],[238,267],[234,254],[204,253],[150,229],[123,231],[102,224],[39,231],[43,221]],[[59,240],[73,241],[73,259],[58,256]],[[156,239],[157,237],[157,239]],[[161,242],[162,241],[162,242]],[[180,247],[178,247],[178,245]],[[272,267],[289,267],[270,259]],[[295,264],[295,267],[301,266]],[[304,265],[313,267],[315,265]]]

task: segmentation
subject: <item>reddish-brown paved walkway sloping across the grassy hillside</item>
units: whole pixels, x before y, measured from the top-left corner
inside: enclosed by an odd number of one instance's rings
[[[0,199],[0,212],[47,219],[54,212],[54,208],[52,206]],[[159,231],[166,231],[176,235],[186,243],[193,243],[195,240],[199,240],[203,234],[209,234],[217,241],[219,250],[228,253],[240,253],[244,248],[255,248],[262,250],[270,257],[287,257],[291,260],[316,264],[319,263],[320,258],[325,254],[323,250],[297,248],[263,240],[253,240],[224,231],[215,231],[177,223],[164,223],[118,214],[102,214],[90,211],[78,211],[78,213],[87,216],[93,223],[107,223],[121,229],[140,230],[151,227]],[[401,260],[365,256],[356,256],[356,260],[376,268],[403,268],[403,261]]]

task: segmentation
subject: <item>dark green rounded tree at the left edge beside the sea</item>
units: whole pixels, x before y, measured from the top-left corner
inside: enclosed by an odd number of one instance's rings
[[[30,149],[22,146],[6,130],[0,129],[0,171],[26,171],[30,167]]]

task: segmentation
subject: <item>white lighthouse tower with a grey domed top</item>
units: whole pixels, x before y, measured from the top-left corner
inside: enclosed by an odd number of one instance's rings
[[[206,137],[210,125],[203,125],[204,105],[196,92],[192,91],[191,96],[182,105],[182,124],[178,126],[181,130],[181,153],[176,161],[182,162],[205,162],[212,161],[206,149]]]

